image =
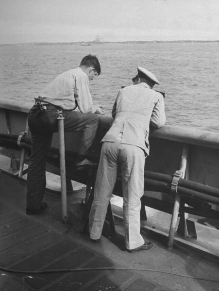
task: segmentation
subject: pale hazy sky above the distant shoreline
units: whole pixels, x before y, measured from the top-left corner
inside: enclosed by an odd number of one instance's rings
[[[219,0],[0,0],[0,44],[218,40]]]

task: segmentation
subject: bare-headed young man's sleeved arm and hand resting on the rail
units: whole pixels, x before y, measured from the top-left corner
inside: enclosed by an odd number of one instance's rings
[[[104,114],[99,106],[93,105],[89,89],[89,80],[85,76],[83,78],[76,78],[74,96],[80,112]]]

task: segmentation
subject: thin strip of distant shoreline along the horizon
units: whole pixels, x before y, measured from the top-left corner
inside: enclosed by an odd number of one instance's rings
[[[80,41],[80,42],[32,42],[32,43],[16,43],[16,44],[0,44],[0,46],[16,46],[16,45],[34,45],[34,46],[51,46],[51,45],[104,45],[104,44],[154,44],[154,43],[217,43],[219,40],[148,40],[148,41]]]

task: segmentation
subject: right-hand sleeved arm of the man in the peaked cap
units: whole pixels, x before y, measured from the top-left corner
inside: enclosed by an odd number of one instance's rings
[[[158,100],[153,108],[150,125],[159,129],[164,126],[166,122],[164,97],[158,93]]]

